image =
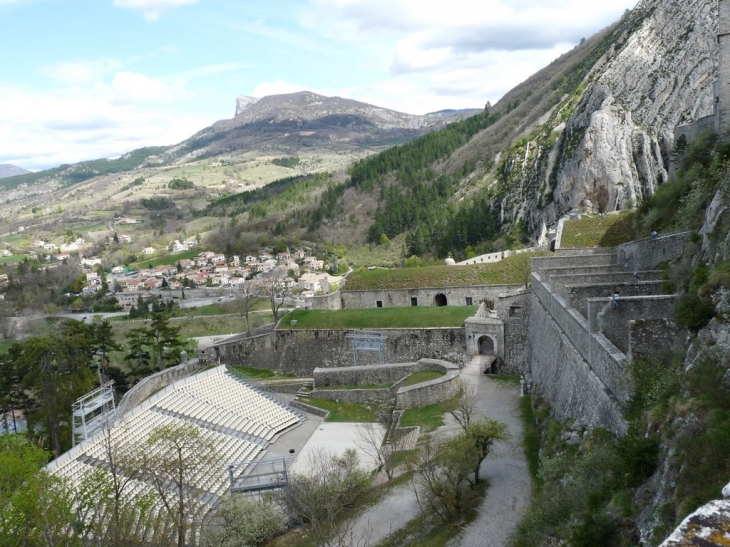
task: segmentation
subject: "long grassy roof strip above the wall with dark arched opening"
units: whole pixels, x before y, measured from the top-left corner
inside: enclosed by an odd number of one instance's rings
[[[358,270],[347,277],[343,291],[461,287],[465,285],[524,284],[529,279],[530,257],[548,253],[522,253],[494,264],[428,266],[394,270]]]

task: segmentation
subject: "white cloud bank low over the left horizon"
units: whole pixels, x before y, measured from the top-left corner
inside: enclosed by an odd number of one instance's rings
[[[176,109],[181,85],[133,72],[48,92],[0,84],[0,163],[43,169],[179,142],[212,121]]]

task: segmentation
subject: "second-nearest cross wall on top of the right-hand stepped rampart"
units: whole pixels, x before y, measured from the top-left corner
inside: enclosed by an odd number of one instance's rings
[[[590,332],[602,333],[624,354],[629,352],[629,322],[633,319],[674,320],[677,295],[633,296],[613,307],[610,298],[588,299]]]

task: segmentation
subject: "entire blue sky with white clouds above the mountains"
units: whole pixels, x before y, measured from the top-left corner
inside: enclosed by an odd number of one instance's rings
[[[0,0],[0,163],[170,145],[235,98],[495,103],[635,0]]]

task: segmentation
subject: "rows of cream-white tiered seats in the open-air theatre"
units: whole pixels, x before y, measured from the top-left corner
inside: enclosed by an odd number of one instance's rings
[[[205,439],[213,441],[221,456],[220,464],[200,469],[190,479],[201,491],[201,501],[212,503],[228,486],[226,467],[230,463],[254,459],[274,435],[300,419],[294,411],[221,366],[165,388],[108,432],[99,433],[51,462],[47,470],[78,485],[94,466],[107,465],[107,435],[111,435],[113,446],[129,446],[143,443],[161,425],[188,422],[198,427]],[[127,495],[150,488],[145,482],[133,481]]]

